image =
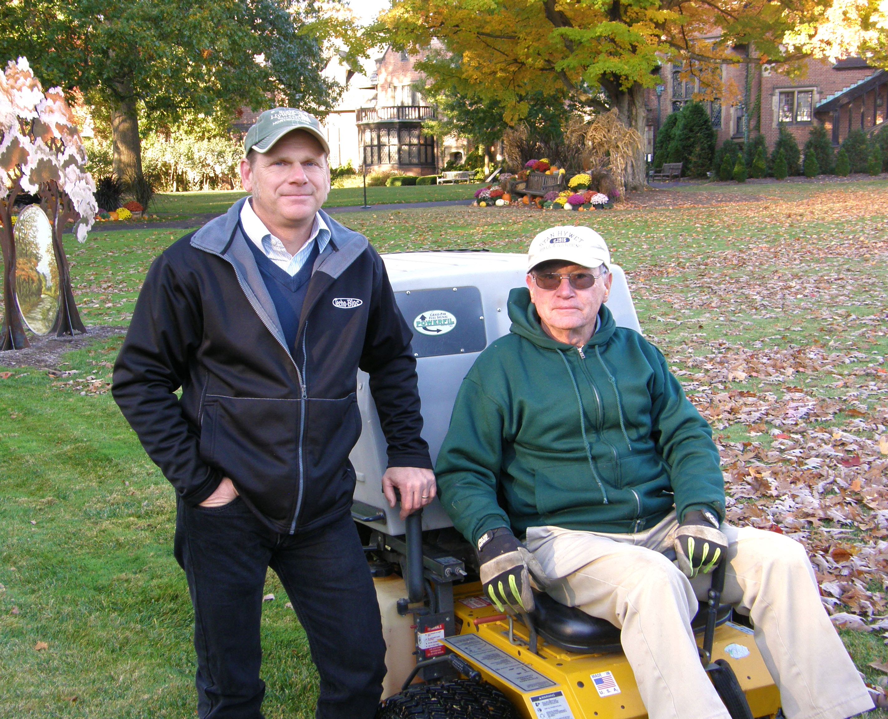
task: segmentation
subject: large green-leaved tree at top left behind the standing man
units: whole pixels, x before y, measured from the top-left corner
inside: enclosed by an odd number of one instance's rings
[[[45,83],[77,89],[110,116],[114,170],[142,175],[140,115],[176,122],[291,104],[324,114],[330,43],[361,51],[337,0],[12,0],[0,4],[0,59],[27,54]]]

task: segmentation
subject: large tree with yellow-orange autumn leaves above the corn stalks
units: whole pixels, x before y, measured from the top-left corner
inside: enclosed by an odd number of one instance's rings
[[[381,26],[396,47],[433,41],[446,52],[417,67],[435,83],[453,67],[483,99],[502,103],[506,122],[527,112],[540,91],[600,111],[644,135],[645,90],[669,61],[701,80],[697,99],[724,97],[721,63],[786,62],[784,36],[829,0],[394,0]],[[755,51],[749,48],[754,44]],[[456,63],[454,62],[456,59]],[[695,61],[692,63],[692,61]],[[627,170],[628,188],[645,183],[644,147]]]

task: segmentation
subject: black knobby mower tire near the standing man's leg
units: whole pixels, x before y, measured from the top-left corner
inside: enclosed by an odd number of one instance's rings
[[[412,684],[379,705],[376,719],[519,719],[502,691],[488,683],[457,679]]]

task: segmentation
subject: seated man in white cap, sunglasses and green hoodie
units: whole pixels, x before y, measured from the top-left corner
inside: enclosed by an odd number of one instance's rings
[[[723,523],[710,427],[662,354],[616,327],[602,304],[609,266],[587,227],[538,234],[527,288],[509,297],[511,333],[456,398],[436,474],[485,594],[531,610],[530,565],[561,604],[622,629],[652,719],[728,719],[690,626],[726,556],[722,601],[749,614],[788,719],[872,708],[802,545]]]

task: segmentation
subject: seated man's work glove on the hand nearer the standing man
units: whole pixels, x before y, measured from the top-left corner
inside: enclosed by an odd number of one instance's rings
[[[478,563],[481,567],[481,590],[500,612],[508,605],[515,612],[534,611],[534,592],[530,573],[543,587],[549,578],[543,567],[521,544],[508,527],[497,527],[478,540]]]

